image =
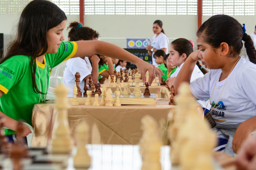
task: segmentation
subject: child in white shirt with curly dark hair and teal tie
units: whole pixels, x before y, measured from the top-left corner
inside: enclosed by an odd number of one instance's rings
[[[68,38],[69,41],[81,40],[98,40],[99,33],[90,27],[83,27],[78,22],[71,22],[67,29],[70,29]],[[80,73],[79,87],[84,93],[85,79],[92,76],[93,84],[98,83],[99,69],[98,63],[100,59],[97,55],[89,55],[82,57],[71,58],[67,61],[64,74],[63,83],[69,87],[68,97],[73,97],[73,88],[75,84],[75,74]]]

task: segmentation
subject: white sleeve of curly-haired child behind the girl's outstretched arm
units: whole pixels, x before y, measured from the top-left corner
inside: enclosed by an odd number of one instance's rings
[[[71,72],[72,74],[75,76],[75,74],[77,72],[80,73],[80,82],[83,81],[83,79],[87,76],[91,74],[91,71],[89,70],[89,68],[87,67],[85,61],[83,62],[80,59],[76,59],[73,62],[73,65],[71,66]]]

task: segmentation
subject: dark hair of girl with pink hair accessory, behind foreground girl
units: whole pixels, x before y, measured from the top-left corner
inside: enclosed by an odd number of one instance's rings
[[[173,49],[175,49],[175,51],[178,51],[179,55],[185,53],[186,56],[188,57],[193,52],[192,43],[185,38],[178,38],[171,42],[171,45],[173,46]],[[202,73],[208,73],[208,71],[200,65],[199,61],[196,62],[196,65],[202,71]]]

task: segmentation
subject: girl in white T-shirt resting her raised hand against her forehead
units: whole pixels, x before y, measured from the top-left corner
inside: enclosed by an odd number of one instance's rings
[[[216,122],[219,143],[216,150],[234,155],[256,129],[256,51],[245,27],[227,15],[209,18],[197,32],[200,50],[186,59],[174,87],[189,82],[198,60],[211,69],[190,84],[200,100],[210,99],[210,114]],[[250,61],[241,58],[243,43]],[[234,151],[234,152],[233,152]]]

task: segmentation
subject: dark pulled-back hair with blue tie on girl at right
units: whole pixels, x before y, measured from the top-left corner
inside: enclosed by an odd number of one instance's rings
[[[202,37],[204,42],[210,44],[213,48],[218,48],[222,42],[226,42],[230,47],[230,57],[240,55],[243,47],[242,39],[245,36],[243,40],[245,40],[246,53],[250,61],[256,63],[256,51],[252,38],[244,34],[242,25],[230,16],[212,16],[200,26],[196,35]]]

